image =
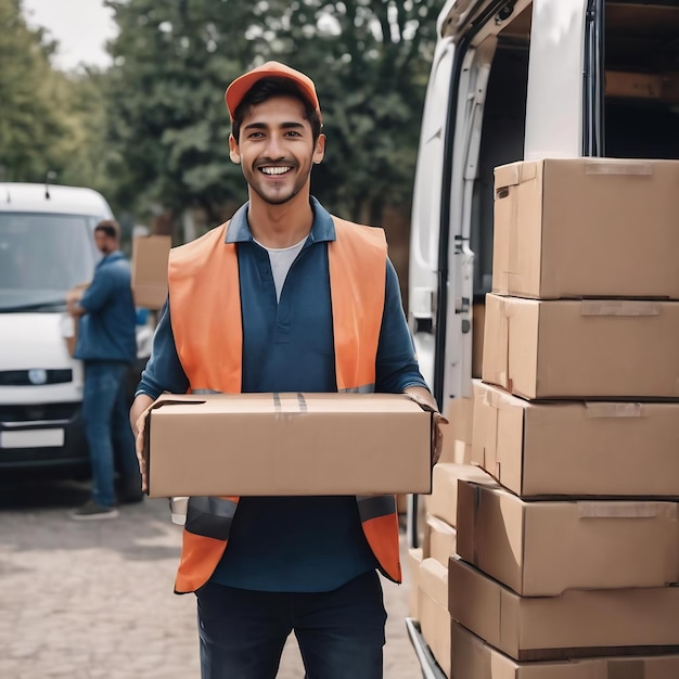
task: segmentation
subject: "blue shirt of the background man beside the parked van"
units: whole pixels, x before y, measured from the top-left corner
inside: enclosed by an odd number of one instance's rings
[[[134,361],[137,310],[130,286],[130,266],[120,251],[99,261],[78,305],[86,313],[78,320],[75,358]]]

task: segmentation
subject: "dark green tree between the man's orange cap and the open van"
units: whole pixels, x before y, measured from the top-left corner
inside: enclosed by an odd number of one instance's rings
[[[410,201],[439,9],[297,0],[271,26],[280,56],[313,74],[329,142],[315,192],[333,208],[376,223],[386,205]]]

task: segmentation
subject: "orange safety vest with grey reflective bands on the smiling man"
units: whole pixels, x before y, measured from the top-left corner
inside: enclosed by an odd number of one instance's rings
[[[338,392],[374,392],[384,311],[386,240],[382,229],[333,217],[328,243]],[[168,283],[172,333],[190,390],[241,393],[243,326],[236,244],[229,222],[172,248]],[[195,591],[221,559],[239,498],[191,498],[175,582]],[[357,496],[363,533],[384,575],[400,582],[394,496]]]

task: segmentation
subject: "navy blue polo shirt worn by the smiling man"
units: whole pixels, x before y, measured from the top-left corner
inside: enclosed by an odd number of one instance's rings
[[[238,243],[243,319],[243,388],[247,392],[336,392],[328,243],[330,214],[311,198],[313,225],[277,302],[267,251],[254,242],[247,204],[233,216],[227,242]],[[426,386],[414,357],[396,271],[387,262],[375,390]],[[189,386],[170,325],[171,299],[138,388],[156,398]],[[219,360],[219,357],[215,357]],[[243,456],[256,454],[243,450]],[[350,497],[241,498],[229,546],[212,580],[265,591],[329,591],[376,567]]]

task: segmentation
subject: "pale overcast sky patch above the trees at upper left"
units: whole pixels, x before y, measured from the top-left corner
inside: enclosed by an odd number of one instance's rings
[[[28,25],[47,28],[59,41],[57,68],[111,63],[104,44],[116,35],[116,24],[102,0],[23,0],[23,5]]]

